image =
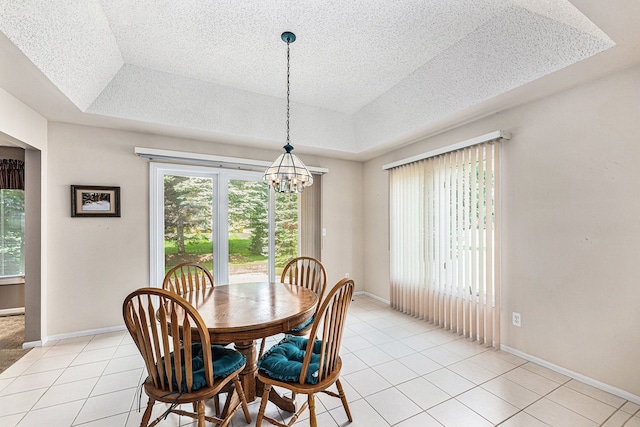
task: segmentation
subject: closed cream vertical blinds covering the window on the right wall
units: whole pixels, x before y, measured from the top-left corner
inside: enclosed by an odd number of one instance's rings
[[[391,305],[500,347],[500,144],[390,169]]]

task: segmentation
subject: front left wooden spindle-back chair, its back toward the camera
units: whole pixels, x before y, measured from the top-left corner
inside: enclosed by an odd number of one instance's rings
[[[129,294],[122,314],[147,369],[144,391],[149,397],[140,426],[151,427],[169,412],[225,427],[242,406],[247,423],[251,422],[247,400],[239,374],[245,367],[243,354],[211,345],[207,326],[191,304],[174,292],[142,288]],[[205,401],[227,391],[223,416],[205,415]],[[169,409],[149,423],[155,402]],[[191,404],[193,412],[179,405]]]

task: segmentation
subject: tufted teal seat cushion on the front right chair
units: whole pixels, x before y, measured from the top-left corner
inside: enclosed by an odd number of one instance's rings
[[[288,335],[260,358],[258,369],[279,381],[299,381],[307,342],[309,342],[308,338]],[[313,354],[305,377],[307,384],[318,383],[321,349],[322,341],[316,340],[313,344]]]

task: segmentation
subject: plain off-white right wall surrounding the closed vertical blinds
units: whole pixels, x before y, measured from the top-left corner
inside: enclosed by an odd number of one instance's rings
[[[381,166],[497,129],[503,344],[639,396],[640,66],[367,162],[367,291],[389,298]]]

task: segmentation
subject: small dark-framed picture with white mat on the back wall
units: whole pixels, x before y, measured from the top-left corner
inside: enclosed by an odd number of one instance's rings
[[[71,186],[72,217],[119,217],[120,187]]]

